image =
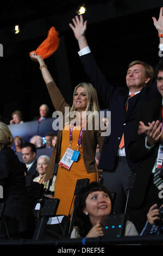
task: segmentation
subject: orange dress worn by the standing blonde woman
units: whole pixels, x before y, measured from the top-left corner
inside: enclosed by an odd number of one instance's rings
[[[66,129],[65,129],[66,128]],[[73,127],[72,132],[72,144],[71,148],[77,150],[78,146],[78,138],[80,133],[80,127]],[[61,141],[61,153],[60,153],[60,160],[62,156],[65,154],[66,149],[70,145],[70,125],[66,125],[64,130],[62,131],[62,141]],[[60,199],[57,215],[67,215],[69,214],[70,207],[72,214],[73,210],[73,195],[74,190],[76,187],[76,182],[78,179],[85,179],[89,178],[90,182],[97,181],[97,173],[87,173],[85,164],[83,161],[83,149],[82,147],[79,148],[80,155],[78,157],[77,162],[73,162],[72,166],[69,170],[61,167],[59,165],[57,178],[55,180],[55,188],[54,188],[54,198]],[[73,200],[74,202],[74,200]],[[72,206],[71,206],[72,203]]]

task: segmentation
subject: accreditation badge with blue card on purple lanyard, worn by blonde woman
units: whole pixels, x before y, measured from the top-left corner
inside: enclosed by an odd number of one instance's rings
[[[72,124],[71,128],[70,128],[70,146],[69,146],[69,148],[67,148],[64,156],[62,157],[62,159],[59,162],[59,165],[67,170],[70,169],[70,167],[72,166],[74,161],[77,162],[79,154],[80,154],[79,147],[82,145],[83,128],[80,130],[80,133],[79,133],[77,150],[74,150],[71,148],[73,126],[74,126],[74,124]]]

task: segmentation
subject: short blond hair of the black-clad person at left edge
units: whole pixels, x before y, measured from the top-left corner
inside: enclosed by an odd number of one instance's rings
[[[0,122],[0,149],[11,148],[13,142],[14,139],[9,130],[9,127],[6,124]]]

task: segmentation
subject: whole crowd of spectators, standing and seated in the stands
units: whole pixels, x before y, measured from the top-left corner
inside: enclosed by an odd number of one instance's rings
[[[154,26],[161,35],[162,11],[163,8],[158,21],[153,17]],[[35,220],[30,192],[34,185],[39,184],[40,187],[43,185],[44,192],[46,190],[46,194],[39,197],[40,204],[45,203],[45,198],[59,198],[57,215],[66,215],[70,220],[73,216],[75,228],[68,234],[71,238],[104,236],[108,216],[124,213],[125,206],[124,236],[160,234],[163,228],[163,201],[159,197],[163,186],[163,61],[160,60],[156,66],[154,82],[151,65],[142,61],[130,63],[126,76],[127,90],[115,89],[105,80],[87,45],[83,17],[76,16],[70,27],[78,40],[79,56],[85,71],[97,91],[90,83],[78,84],[74,89],[73,105],[69,106],[43,58],[31,53],[30,58],[40,64],[55,109],[63,114],[64,107],[68,107],[70,113],[77,111],[77,124],[80,121],[81,125],[78,127],[65,121],[64,129],[59,130],[58,135],[46,131],[43,137],[36,134],[26,142],[18,134],[13,138],[9,127],[0,122],[0,185],[5,190],[0,203],[5,202],[4,223],[9,227],[6,234],[6,227],[0,220],[0,238],[32,238]],[[163,36],[159,38],[163,49]],[[105,138],[94,126],[92,130],[83,129],[90,116],[84,119],[82,112],[99,111],[97,92],[112,109],[112,131]],[[48,112],[48,106],[42,104],[40,116],[35,118],[38,127],[42,120],[48,118]],[[22,113],[14,111],[10,125],[22,123]],[[104,123],[108,120],[104,119]],[[42,154],[36,159],[39,150],[45,149],[46,152],[49,148],[53,149],[51,157]],[[16,157],[18,153],[22,154],[22,162]],[[54,174],[56,166],[57,176]],[[133,173],[135,180],[131,189],[129,178]],[[79,179],[89,180],[90,184],[79,190],[73,201]],[[18,203],[21,203],[20,208]],[[20,223],[16,224],[17,216]],[[32,220],[30,228],[27,225],[29,218]]]

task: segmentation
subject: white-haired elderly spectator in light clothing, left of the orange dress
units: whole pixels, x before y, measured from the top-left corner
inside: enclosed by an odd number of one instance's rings
[[[48,190],[54,192],[54,184],[56,176],[53,176],[52,184],[49,186],[49,180],[45,181],[45,175],[47,173],[48,169],[48,163],[50,161],[50,157],[47,155],[41,155],[37,159],[37,172],[39,173],[39,176],[34,178],[33,181],[39,182],[40,184],[44,185],[44,188],[47,188]]]

